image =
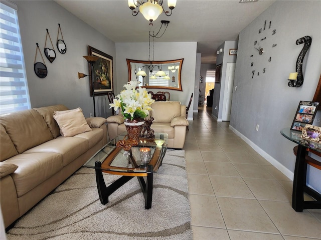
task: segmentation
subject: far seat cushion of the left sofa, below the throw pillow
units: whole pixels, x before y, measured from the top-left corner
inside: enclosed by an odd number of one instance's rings
[[[24,153],[54,152],[62,155],[63,166],[66,166],[88,149],[88,141],[85,138],[58,136]]]

